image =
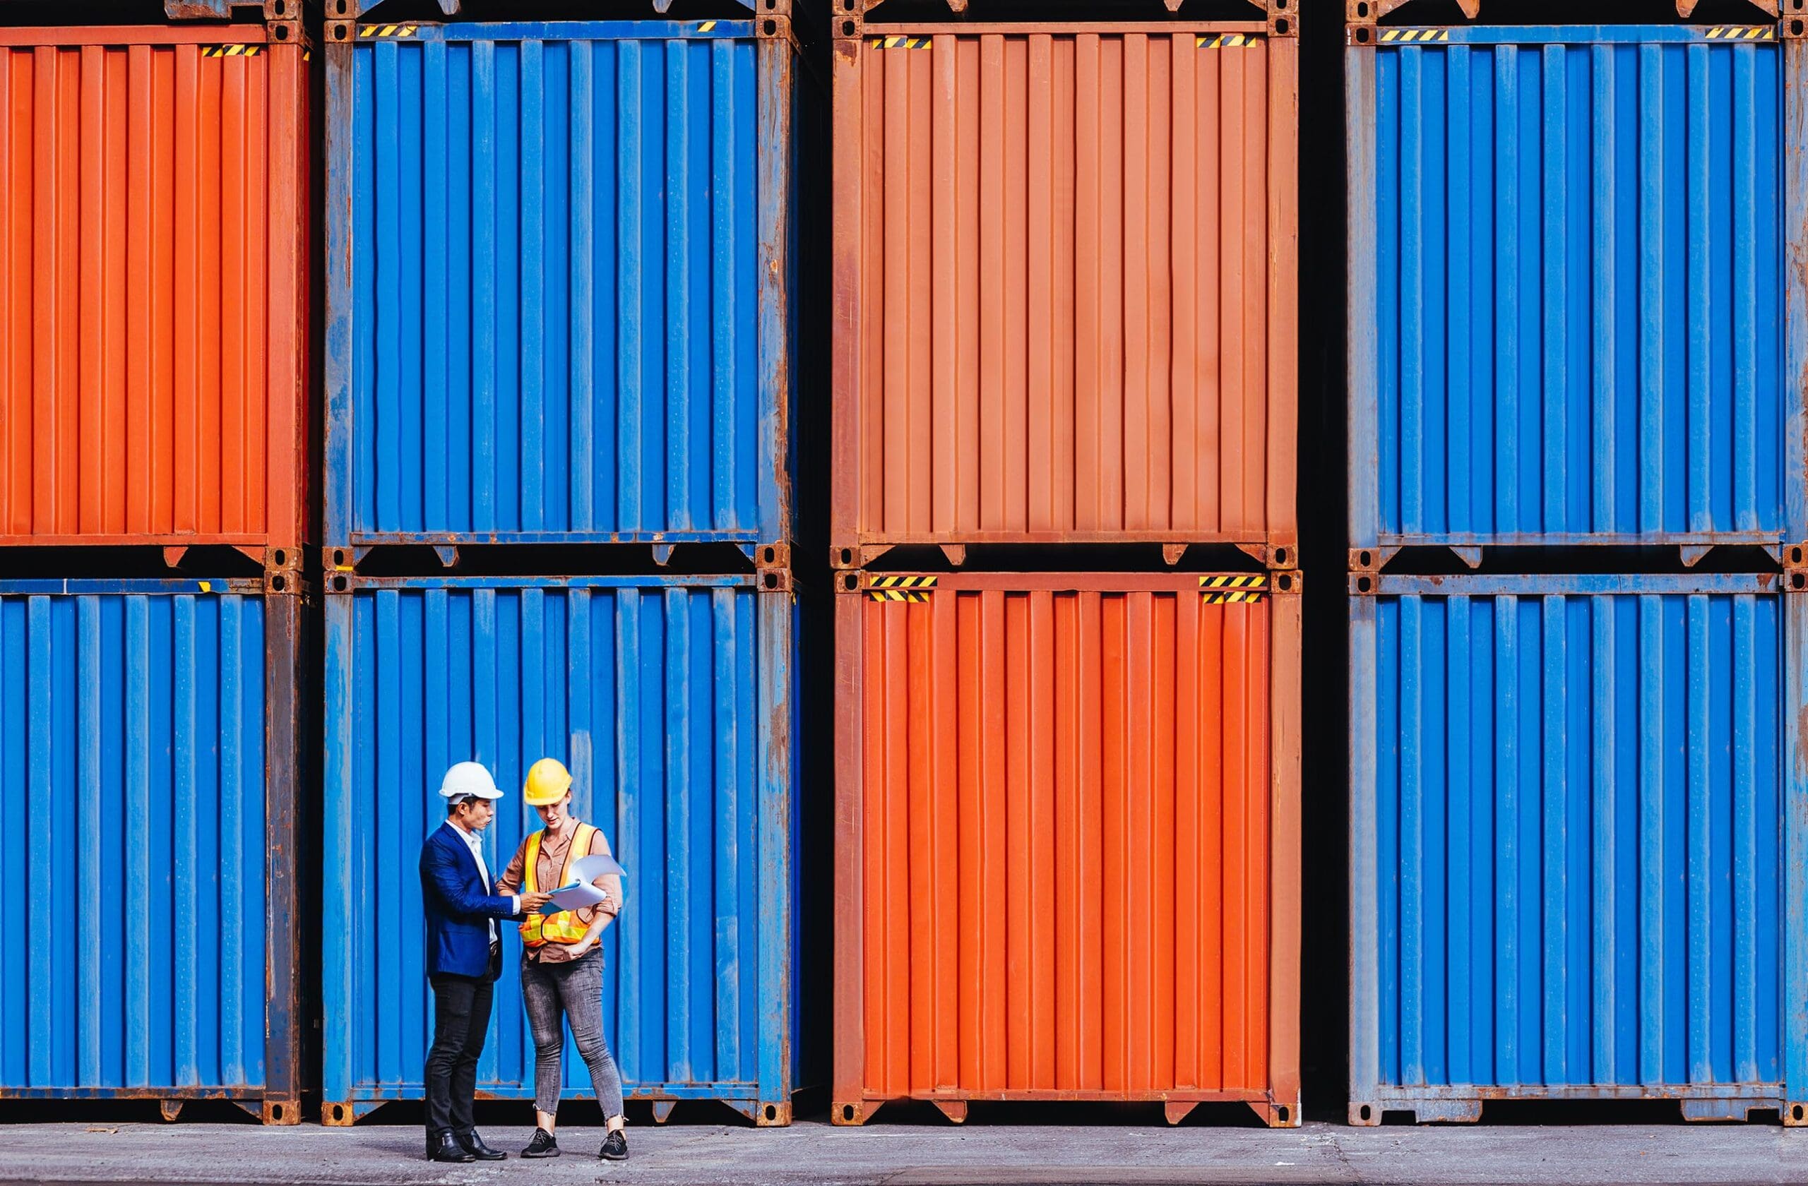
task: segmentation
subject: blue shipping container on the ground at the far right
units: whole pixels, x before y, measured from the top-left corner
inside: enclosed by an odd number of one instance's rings
[[[1808,1106],[1808,595],[1351,577],[1351,1123]]]

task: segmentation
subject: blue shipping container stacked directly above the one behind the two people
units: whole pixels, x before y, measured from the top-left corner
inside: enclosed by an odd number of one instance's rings
[[[327,43],[329,542],[786,541],[792,43],[374,29]]]

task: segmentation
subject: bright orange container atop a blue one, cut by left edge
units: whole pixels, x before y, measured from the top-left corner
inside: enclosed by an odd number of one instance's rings
[[[302,49],[0,29],[0,544],[304,542]]]

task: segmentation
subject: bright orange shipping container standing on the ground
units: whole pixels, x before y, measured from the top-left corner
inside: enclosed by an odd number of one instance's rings
[[[837,580],[832,1119],[1298,1125],[1298,575]]]

